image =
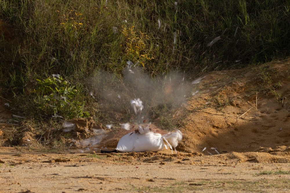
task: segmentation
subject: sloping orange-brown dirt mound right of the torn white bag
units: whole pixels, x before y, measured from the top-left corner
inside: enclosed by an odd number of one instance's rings
[[[211,155],[217,154],[211,147],[226,153],[289,146],[289,70],[284,62],[207,74],[188,102],[177,148],[201,152],[207,147],[204,153]]]

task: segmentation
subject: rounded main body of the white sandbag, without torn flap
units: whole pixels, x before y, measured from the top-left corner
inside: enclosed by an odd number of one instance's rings
[[[117,150],[120,152],[144,152],[144,151],[161,151],[164,147],[162,135],[160,133],[136,132],[124,135],[118,142]]]

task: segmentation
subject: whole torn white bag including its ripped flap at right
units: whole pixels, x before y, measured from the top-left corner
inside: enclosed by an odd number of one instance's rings
[[[164,146],[167,149],[167,146],[164,145],[164,141],[166,141],[167,145],[172,149],[171,145],[168,143],[169,141],[175,149],[178,145],[178,141],[181,141],[181,139],[182,133],[180,130],[161,135],[160,133],[150,131],[148,127],[142,128],[139,126],[134,132],[124,135],[119,140],[116,149],[120,152],[157,152],[161,151]]]

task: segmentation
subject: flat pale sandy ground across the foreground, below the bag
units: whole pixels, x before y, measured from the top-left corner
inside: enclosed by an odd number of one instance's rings
[[[290,175],[279,173],[289,171],[289,163],[242,162],[237,153],[92,155],[25,149],[0,149],[0,192],[288,192],[290,188]],[[274,173],[260,174],[263,171]]]

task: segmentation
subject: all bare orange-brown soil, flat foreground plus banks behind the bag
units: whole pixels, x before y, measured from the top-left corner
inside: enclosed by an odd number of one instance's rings
[[[0,192],[288,192],[288,60],[209,72],[193,86],[187,104],[172,112],[183,133],[173,154],[102,154],[127,131],[90,118],[73,120],[76,129],[62,138],[70,148],[37,150],[42,138],[31,128],[9,139],[17,120],[0,98],[1,145],[21,146],[0,148]]]

